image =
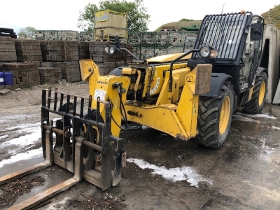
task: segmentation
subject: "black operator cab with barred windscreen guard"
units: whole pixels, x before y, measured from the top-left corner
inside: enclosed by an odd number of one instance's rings
[[[263,18],[251,12],[206,15],[195,48],[209,45],[218,55],[205,59],[194,52],[188,66],[193,69],[197,64],[210,63],[213,73],[226,73],[233,78],[237,94],[245,92],[253,87],[260,63],[264,25]]]

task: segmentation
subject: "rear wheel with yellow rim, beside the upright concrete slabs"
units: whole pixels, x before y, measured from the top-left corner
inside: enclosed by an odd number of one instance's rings
[[[265,98],[267,97],[267,73],[262,72],[260,76],[255,78],[252,98],[244,104],[243,111],[246,113],[260,113],[265,106]]]

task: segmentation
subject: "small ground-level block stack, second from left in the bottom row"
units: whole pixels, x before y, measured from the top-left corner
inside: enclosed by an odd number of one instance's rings
[[[55,84],[58,80],[62,80],[62,73],[60,68],[55,67],[39,67],[41,85]]]

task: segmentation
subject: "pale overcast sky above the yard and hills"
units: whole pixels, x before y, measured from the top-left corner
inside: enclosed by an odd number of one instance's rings
[[[73,30],[78,29],[78,16],[87,3],[98,5],[99,0],[1,0],[0,27],[15,29],[34,27],[37,30]],[[255,14],[267,12],[279,5],[280,0],[267,0],[258,3],[256,0],[144,0],[148,8],[151,22],[149,31],[154,31],[168,22],[177,22],[183,18],[202,20],[204,15],[218,13],[235,13],[240,10],[251,11]]]

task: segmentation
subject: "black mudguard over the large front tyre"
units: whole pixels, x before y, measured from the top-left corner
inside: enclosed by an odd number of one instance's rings
[[[223,83],[225,83],[225,81],[227,80],[230,80],[230,82],[233,84],[232,76],[225,73],[212,73],[210,91],[207,94],[200,94],[200,96],[217,97],[219,95]]]

